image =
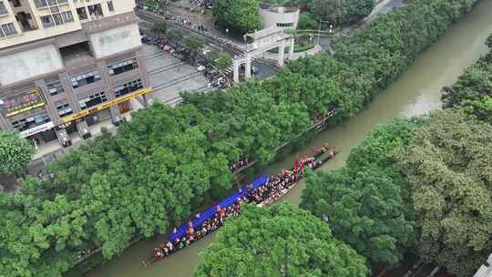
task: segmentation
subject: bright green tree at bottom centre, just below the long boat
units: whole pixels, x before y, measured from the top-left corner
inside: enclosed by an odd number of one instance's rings
[[[203,253],[195,277],[333,276],[364,277],[363,257],[333,238],[309,212],[282,203],[247,206],[227,221],[217,242]]]

